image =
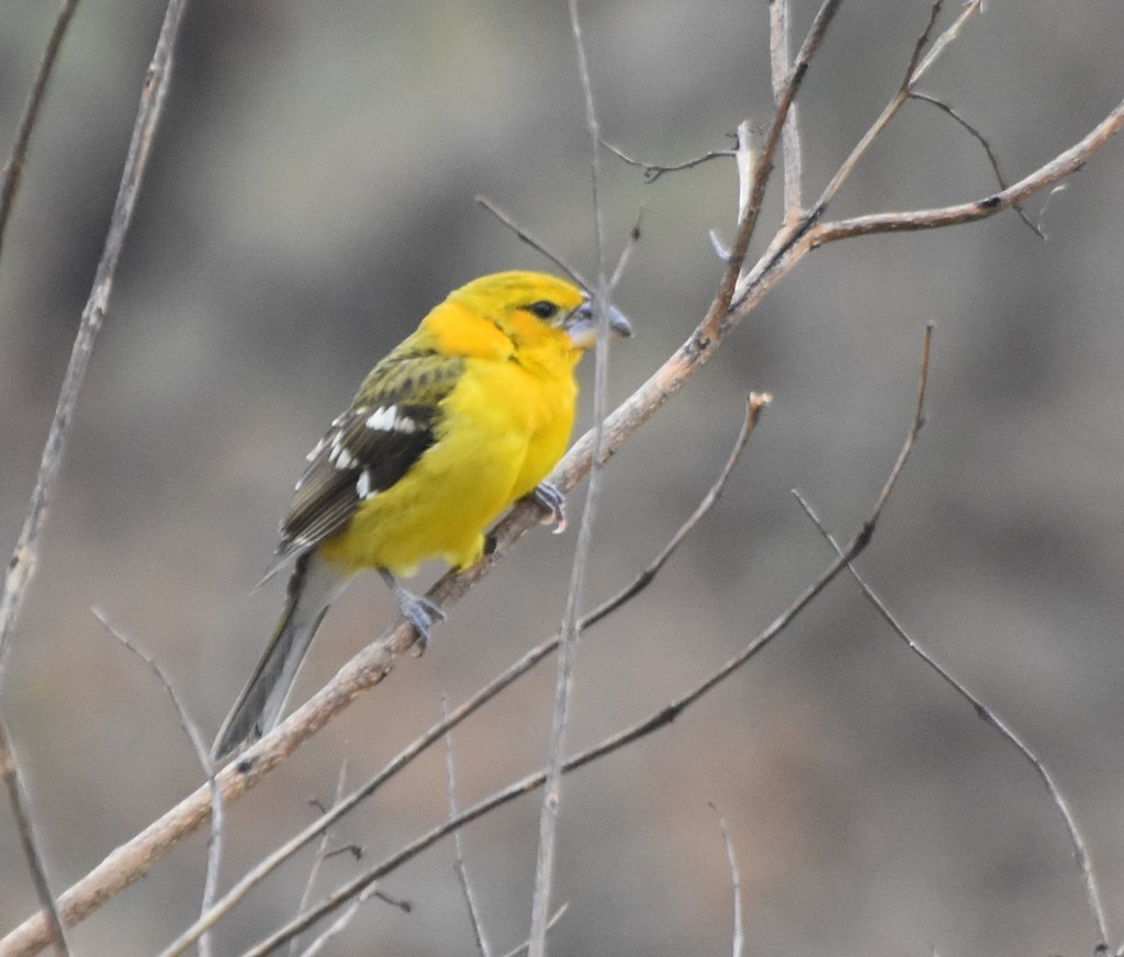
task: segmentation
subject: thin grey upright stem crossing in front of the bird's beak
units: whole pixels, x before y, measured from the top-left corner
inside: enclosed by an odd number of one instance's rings
[[[581,18],[578,0],[569,0],[570,31],[573,35],[578,60],[578,76],[586,103],[586,128],[590,139],[590,199],[593,217],[593,248],[597,255],[597,288],[593,293],[597,316],[597,349],[593,370],[593,467],[586,486],[586,505],[581,512],[581,527],[574,546],[570,573],[570,589],[566,592],[565,610],[558,650],[558,674],[554,682],[554,708],[551,716],[551,733],[546,746],[546,785],[538,815],[538,853],[535,860],[535,885],[531,903],[531,932],[528,954],[531,957],[546,955],[546,926],[551,919],[551,893],[554,883],[554,856],[558,846],[558,820],[562,805],[562,766],[565,762],[566,732],[570,726],[570,701],[573,694],[573,676],[578,662],[579,614],[584,596],[586,571],[589,566],[593,528],[597,525],[598,505],[601,500],[601,474],[605,459],[601,446],[605,432],[605,417],[608,412],[609,382],[609,288],[605,268],[605,230],[601,211],[601,133],[593,99],[593,84],[589,74],[589,61],[581,34]]]

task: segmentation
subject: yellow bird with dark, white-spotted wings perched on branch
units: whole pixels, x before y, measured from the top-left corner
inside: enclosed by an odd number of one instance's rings
[[[615,309],[610,330],[632,335]],[[533,495],[565,452],[574,367],[596,339],[589,295],[542,273],[483,276],[454,290],[383,358],[308,454],[269,578],[294,562],[281,619],[219,730],[218,760],[277,724],[317,626],[355,573],[374,568],[425,642],[443,618],[402,587],[420,562],[478,560],[484,529]]]

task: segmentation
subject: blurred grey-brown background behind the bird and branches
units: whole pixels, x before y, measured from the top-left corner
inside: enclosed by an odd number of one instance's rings
[[[803,30],[814,4],[797,2]],[[65,46],[0,267],[0,541],[18,534],[105,237],[160,3],[85,0]],[[955,7],[955,4],[950,4]],[[807,195],[896,89],[928,0],[844,3],[801,100]],[[6,6],[7,152],[54,4]],[[955,10],[950,9],[945,21]],[[764,3],[584,4],[606,138],[652,162],[728,145],[770,116]],[[1124,94],[1124,4],[992,0],[924,83],[1019,177]],[[703,495],[743,397],[776,401],[710,519],[658,584],[590,632],[574,749],[659,708],[740,649],[830,560],[789,495],[850,535],[912,409],[936,323],[930,420],[861,565],[903,621],[1037,750],[1085,829],[1124,929],[1124,221],[1121,144],[1054,197],[1048,241],[1015,216],[809,256],[613,461],[589,600],[615,591]],[[616,294],[637,328],[611,395],[688,335],[732,234],[733,165],[645,185],[606,158],[610,255],[644,208]],[[779,185],[779,181],[778,181]],[[979,145],[909,104],[833,216],[978,198]],[[546,264],[486,193],[580,268],[595,264],[589,142],[565,4],[192,0],[163,126],[98,344],[3,687],[56,888],[194,789],[164,691],[91,614],[149,649],[208,737],[273,625],[252,591],[305,452],[360,379],[445,292]],[[1043,199],[1028,209],[1039,216]],[[776,199],[761,241],[777,222]],[[589,423],[592,366],[581,427]],[[561,538],[533,532],[375,692],[230,809],[229,883],[327,800],[550,632],[583,490]],[[7,550],[3,554],[8,554]],[[415,582],[426,585],[438,569]],[[298,685],[319,686],[392,618],[375,576],[333,609]],[[545,753],[553,667],[456,733],[462,803]],[[729,823],[747,953],[1081,954],[1093,923],[1033,772],[840,580],[672,727],[568,778],[559,955],[728,953]],[[435,751],[337,830],[364,864],[445,814]],[[473,824],[465,850],[498,951],[529,919],[538,799]],[[201,837],[73,932],[147,954],[197,913]],[[441,845],[365,905],[336,954],[468,954]],[[317,896],[355,873],[327,862]],[[306,855],[217,932],[236,953],[294,911]],[[0,808],[0,928],[35,906]],[[1111,941],[1116,944],[1117,940]]]

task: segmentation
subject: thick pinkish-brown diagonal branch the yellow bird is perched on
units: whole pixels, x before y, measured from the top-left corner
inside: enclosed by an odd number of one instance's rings
[[[966,11],[978,8],[970,3]],[[962,22],[962,21],[961,21]],[[948,33],[945,34],[948,36]],[[934,49],[941,43],[934,45]],[[931,51],[930,56],[933,53]],[[926,60],[927,62],[927,60]],[[923,64],[924,65],[924,64]],[[783,229],[753,270],[738,285],[736,300],[708,326],[716,335],[704,335],[700,326],[640,385],[605,421],[600,444],[601,458],[620,448],[663,404],[674,397],[717,354],[718,346],[776,288],[804,256],[818,245],[852,235],[877,231],[936,228],[973,221],[1005,209],[1013,202],[1049,189],[1059,180],[1089,162],[1095,153],[1124,126],[1124,102],[1120,103],[1087,136],[1053,160],[1027,174],[1008,190],[984,200],[901,215],[880,213],[845,222],[822,224],[815,211],[801,219],[796,230]],[[714,307],[711,307],[714,308]],[[581,436],[550,476],[561,491],[577,485],[591,468],[593,435]],[[428,596],[450,607],[515,547],[518,540],[540,523],[541,512],[531,503],[511,509],[492,529],[496,549],[483,560],[460,572],[450,572],[428,592]],[[414,631],[399,626],[363,648],[305,705],[285,722],[248,749],[219,775],[224,800],[229,803],[278,767],[301,742],[314,736],[351,704],[356,695],[373,687],[395,667],[414,641]],[[549,651],[547,651],[549,654]],[[153,821],[142,832],[111,851],[105,860],[65,891],[58,900],[64,921],[74,923],[142,877],[167,850],[198,829],[208,818],[209,792],[198,789],[174,808]],[[51,939],[43,914],[29,917],[0,940],[0,955],[24,957],[36,953]]]

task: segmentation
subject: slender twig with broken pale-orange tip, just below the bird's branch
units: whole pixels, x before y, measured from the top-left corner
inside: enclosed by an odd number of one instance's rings
[[[734,466],[741,457],[741,452],[745,447],[750,437],[753,435],[753,428],[756,425],[758,418],[769,401],[770,397],[768,393],[750,394],[746,419],[743,421],[737,439],[734,443],[734,447],[731,450],[729,457],[723,467],[718,480],[707,492],[703,501],[690,514],[687,521],[680,526],[680,528],[671,537],[671,540],[661,549],[660,554],[647,564],[647,566],[633,580],[633,582],[608,601],[602,602],[598,608],[586,614],[581,621],[582,631],[586,631],[595,625],[601,622],[613,612],[623,608],[628,603],[628,601],[643,592],[644,589],[652,583],[687,536],[699,527],[703,518],[709,513],[722,495],[723,489],[725,487]],[[242,879],[235,883],[234,886],[230,887],[230,890],[216,902],[209,914],[200,918],[200,920],[192,927],[188,928],[188,930],[185,930],[172,945],[169,946],[166,950],[163,951],[161,957],[176,957],[176,955],[184,953],[196,940],[198,940],[199,935],[206,928],[214,927],[221,918],[229,913],[253,887],[264,881],[266,876],[292,857],[292,855],[300,850],[300,848],[312,840],[317,835],[323,833],[325,829],[339,820],[339,818],[344,814],[348,813],[362,801],[365,801],[374,794],[378,789],[380,789],[387,781],[413,762],[419,754],[425,751],[430,745],[447,735],[459,723],[496,698],[505,689],[514,684],[518,678],[523,677],[523,675],[531,672],[540,662],[555,651],[558,646],[559,635],[555,634],[542,644],[532,648],[529,651],[526,651],[518,660],[514,662],[504,672],[481,686],[471,698],[450,712],[444,720],[437,722],[423,736],[407,745],[374,777],[369,780],[343,801],[337,801],[335,806],[325,812],[319,820],[312,821],[302,831],[294,835],[285,841],[285,844],[275,848],[268,857],[247,872]]]

